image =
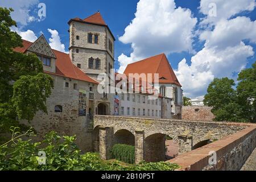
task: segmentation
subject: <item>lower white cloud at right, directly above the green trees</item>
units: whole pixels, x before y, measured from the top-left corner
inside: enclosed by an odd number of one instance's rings
[[[253,55],[253,48],[243,42],[225,49],[203,48],[192,57],[190,66],[185,59],[180,61],[175,74],[185,96],[201,96],[214,77],[232,78],[234,72],[245,68],[247,57]]]

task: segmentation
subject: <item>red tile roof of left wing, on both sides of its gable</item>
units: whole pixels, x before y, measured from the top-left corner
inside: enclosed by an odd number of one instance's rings
[[[30,47],[31,44],[33,44],[32,42],[28,42],[27,40],[22,40],[22,43],[24,47],[16,47],[14,48],[14,51],[24,53],[26,52],[27,48]],[[45,73],[98,84],[97,81],[93,80],[84,72],[82,72],[81,69],[77,68],[71,62],[71,59],[67,53],[56,51],[55,49],[52,49],[52,51],[56,55],[56,73],[44,71]]]

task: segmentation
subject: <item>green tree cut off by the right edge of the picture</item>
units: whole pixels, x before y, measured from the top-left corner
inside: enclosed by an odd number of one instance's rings
[[[243,69],[238,74],[237,102],[241,115],[250,122],[256,123],[256,61],[252,68]]]

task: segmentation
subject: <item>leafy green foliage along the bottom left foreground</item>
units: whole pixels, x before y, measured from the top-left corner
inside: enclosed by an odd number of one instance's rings
[[[12,139],[0,146],[0,171],[2,170],[27,170],[27,171],[171,171],[179,168],[172,163],[145,163],[126,164],[117,160],[101,160],[98,154],[86,153],[81,155],[81,151],[74,143],[76,137],[61,138],[54,131],[46,134],[42,142],[31,142],[22,140],[20,137],[32,134],[28,131],[20,134],[17,128],[12,128]],[[46,163],[39,152],[45,152]]]

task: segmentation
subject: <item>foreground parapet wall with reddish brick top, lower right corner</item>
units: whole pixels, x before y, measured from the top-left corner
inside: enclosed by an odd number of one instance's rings
[[[250,125],[229,137],[177,156],[169,162],[179,164],[180,170],[235,171],[241,169],[255,147],[256,125]],[[215,164],[209,163],[213,161],[211,152],[216,154]]]

